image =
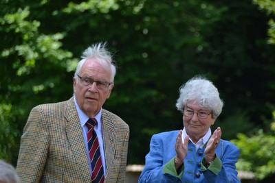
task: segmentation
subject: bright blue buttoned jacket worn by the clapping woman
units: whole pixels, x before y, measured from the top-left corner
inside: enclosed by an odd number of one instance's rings
[[[139,182],[188,182],[188,183],[240,183],[237,178],[235,163],[239,158],[239,148],[229,141],[220,140],[215,150],[216,158],[221,160],[221,167],[215,167],[217,173],[204,168],[201,160],[204,157],[204,149],[196,147],[190,141],[188,154],[184,159],[182,178],[165,172],[165,166],[176,156],[175,143],[179,130],[155,134],[151,138],[150,152],[146,155],[145,167],[140,175]],[[173,163],[173,162],[172,162]],[[175,169],[175,167],[174,167]]]

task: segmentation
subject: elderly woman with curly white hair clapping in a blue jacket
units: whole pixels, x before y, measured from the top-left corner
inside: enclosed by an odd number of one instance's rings
[[[223,108],[212,82],[193,77],[180,87],[176,106],[184,129],[152,136],[139,182],[240,182],[239,148],[221,139],[220,127],[210,129]]]

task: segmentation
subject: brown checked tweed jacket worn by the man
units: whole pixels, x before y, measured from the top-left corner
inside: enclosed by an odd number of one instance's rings
[[[104,182],[125,182],[129,126],[104,109],[101,119]],[[21,182],[91,182],[82,133],[74,97],[34,107],[21,136],[17,162]]]

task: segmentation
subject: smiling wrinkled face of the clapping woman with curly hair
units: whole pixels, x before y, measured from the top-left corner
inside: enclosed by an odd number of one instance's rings
[[[190,136],[194,143],[197,143],[200,138],[202,138],[207,132],[211,125],[214,125],[216,119],[212,118],[211,111],[202,109],[199,106],[199,103],[196,101],[188,101],[187,105],[184,107],[184,110],[189,112],[195,112],[192,117],[186,117],[183,115],[184,127],[186,133]],[[197,112],[202,112],[209,114],[206,118],[199,118]]]

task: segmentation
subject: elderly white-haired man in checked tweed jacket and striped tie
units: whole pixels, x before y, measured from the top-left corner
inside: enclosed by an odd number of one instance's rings
[[[22,182],[124,182],[129,126],[102,108],[115,71],[105,44],[92,45],[78,63],[74,96],[30,112],[17,163]]]

